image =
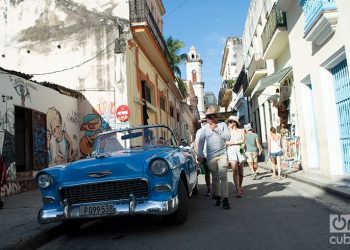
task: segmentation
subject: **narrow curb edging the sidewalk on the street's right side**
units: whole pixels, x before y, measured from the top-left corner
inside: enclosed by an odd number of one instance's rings
[[[263,164],[259,165],[259,167],[261,167],[265,170],[269,170],[269,171],[271,170],[271,168],[269,168],[268,166],[263,165]],[[290,171],[288,173],[285,173],[285,176],[286,176],[286,178],[290,178],[290,179],[311,185],[313,187],[322,189],[323,191],[325,191],[329,194],[333,194],[333,195],[336,195],[336,196],[341,197],[343,199],[350,200],[350,191],[346,191],[346,190],[343,190],[342,188],[334,187],[334,186],[329,185],[329,184],[324,184],[324,183],[319,182],[317,180],[310,180],[304,176],[299,175],[299,173],[300,173],[300,170]]]

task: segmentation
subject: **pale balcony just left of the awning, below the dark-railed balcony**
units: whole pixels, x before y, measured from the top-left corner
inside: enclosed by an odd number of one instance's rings
[[[249,96],[258,81],[267,75],[266,61],[262,59],[262,55],[260,53],[253,55],[247,70],[249,85],[244,91],[245,96]]]

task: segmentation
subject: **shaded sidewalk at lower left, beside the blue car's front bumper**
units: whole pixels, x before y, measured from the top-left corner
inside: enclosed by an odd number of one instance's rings
[[[42,206],[38,189],[2,198],[0,249],[35,249],[62,233],[59,223],[40,225],[36,216]]]

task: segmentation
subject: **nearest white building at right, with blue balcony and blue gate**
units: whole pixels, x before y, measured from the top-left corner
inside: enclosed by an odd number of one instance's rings
[[[280,0],[287,13],[302,165],[321,176],[350,174],[350,2]]]

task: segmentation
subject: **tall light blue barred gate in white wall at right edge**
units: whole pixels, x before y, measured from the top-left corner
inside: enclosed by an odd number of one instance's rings
[[[345,172],[350,173],[350,77],[346,59],[332,69]]]

